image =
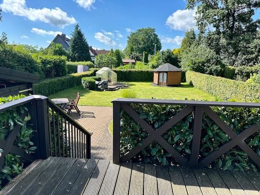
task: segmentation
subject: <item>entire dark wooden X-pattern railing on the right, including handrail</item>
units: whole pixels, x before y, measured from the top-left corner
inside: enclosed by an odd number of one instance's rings
[[[158,142],[171,156],[177,160],[180,165],[190,167],[206,167],[211,162],[228,152],[235,146],[251,158],[254,163],[260,167],[260,156],[256,154],[245,142],[247,137],[252,136],[257,131],[260,131],[260,118],[258,122],[243,130],[237,135],[231,127],[227,125],[211,107],[246,107],[246,108],[260,108],[260,103],[243,103],[243,102],[214,102],[214,101],[188,101],[188,100],[163,100],[163,99],[131,99],[131,98],[117,98],[113,103],[113,162],[127,162],[134,156],[139,154],[145,147],[153,141]],[[157,104],[157,105],[182,105],[184,108],[176,115],[171,117],[166,123],[161,125],[158,129],[154,129],[146,120],[140,118],[138,114],[129,104]],[[148,133],[148,136],[140,141],[136,147],[132,148],[126,154],[120,155],[120,113],[123,110],[126,114],[132,117],[140,127]],[[193,113],[193,139],[191,144],[191,155],[189,159],[181,156],[180,153],[171,146],[163,137],[162,134],[172,128],[181,119]],[[211,118],[222,131],[229,137],[229,141],[221,145],[218,150],[212,152],[208,156],[200,156],[200,139],[202,129],[203,113]]]

